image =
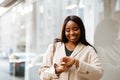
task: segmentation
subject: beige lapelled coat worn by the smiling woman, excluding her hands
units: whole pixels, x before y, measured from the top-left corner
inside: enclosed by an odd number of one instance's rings
[[[100,80],[103,74],[102,66],[91,46],[79,43],[70,55],[79,60],[79,67],[72,66],[70,70],[61,73],[58,78],[53,64],[59,64],[63,56],[66,56],[64,43],[56,44],[55,53],[53,53],[53,44],[49,45],[40,67],[40,80]]]

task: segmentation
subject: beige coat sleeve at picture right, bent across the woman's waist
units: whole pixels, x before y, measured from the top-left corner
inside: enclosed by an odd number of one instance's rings
[[[98,55],[92,47],[88,52],[87,58],[90,59],[89,63],[79,60],[79,67],[76,68],[74,66],[73,69],[81,77],[89,80],[100,80],[103,75],[103,68],[99,61]]]

